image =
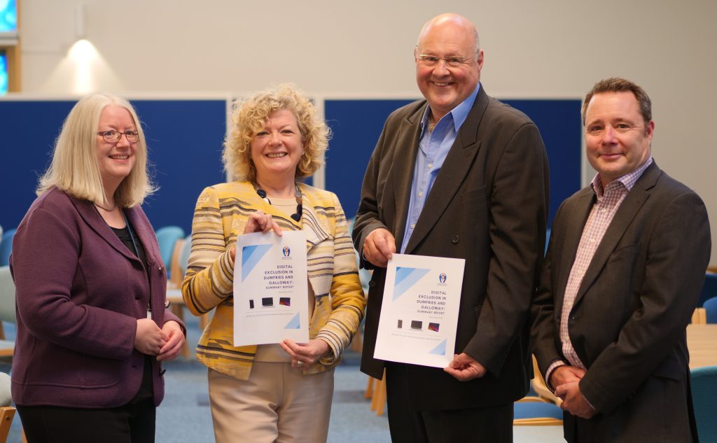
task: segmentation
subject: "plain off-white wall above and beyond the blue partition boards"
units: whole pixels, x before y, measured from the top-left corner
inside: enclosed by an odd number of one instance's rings
[[[126,95],[242,94],[291,81],[315,96],[417,97],[420,27],[464,14],[480,32],[490,95],[582,97],[609,76],[645,87],[655,160],[698,191],[717,237],[716,1],[20,1],[23,90],[52,95],[77,92],[65,55],[78,4],[102,57],[83,85]]]

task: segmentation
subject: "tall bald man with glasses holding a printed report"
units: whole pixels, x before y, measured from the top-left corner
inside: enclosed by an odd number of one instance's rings
[[[392,113],[369,162],[353,241],[373,269],[361,370],[386,368],[393,442],[511,442],[528,391],[528,312],[546,232],[548,162],[536,125],[480,85],[483,50],[442,14],[415,47],[425,100]],[[445,369],[374,358],[391,254],[465,259]]]

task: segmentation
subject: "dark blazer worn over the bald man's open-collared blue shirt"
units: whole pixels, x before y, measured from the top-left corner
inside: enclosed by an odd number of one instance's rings
[[[404,237],[426,106],[419,100],[386,120],[366,170],[353,229],[359,251],[379,227],[389,229],[397,243]],[[526,393],[531,368],[526,320],[543,255],[548,188],[538,128],[481,87],[406,253],[466,260],[455,352],[469,354],[489,372],[460,382],[440,368],[409,365],[414,409],[505,404]],[[385,268],[374,270],[361,359],[361,370],[378,378],[384,361],[373,355],[385,277]]]

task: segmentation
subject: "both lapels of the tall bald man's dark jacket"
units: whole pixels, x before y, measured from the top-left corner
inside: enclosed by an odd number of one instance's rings
[[[406,247],[406,253],[410,254],[413,249],[427,236],[432,227],[436,224],[440,216],[443,214],[448,205],[456,198],[456,193],[460,188],[461,184],[465,180],[470,168],[473,166],[473,161],[480,148],[480,141],[476,141],[478,138],[478,127],[480,120],[483,118],[485,108],[488,108],[488,95],[483,90],[483,87],[478,91],[478,95],[475,97],[475,103],[468,113],[465,122],[460,127],[458,134],[451,146],[448,155],[441,170],[438,171],[438,176],[433,184],[431,191],[428,194],[426,203],[423,206],[423,211],[418,218],[416,227],[414,228],[411,238]],[[415,145],[417,151],[418,141]],[[416,154],[411,162],[411,171],[413,171],[414,164],[416,163]],[[410,199],[411,191],[411,178],[408,177],[406,183],[408,184],[406,196],[406,211],[403,214],[402,222],[405,224],[408,202]],[[397,242],[402,241],[403,237],[397,237]]]

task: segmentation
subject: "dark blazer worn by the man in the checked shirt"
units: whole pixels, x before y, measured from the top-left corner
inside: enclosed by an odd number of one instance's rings
[[[589,187],[556,214],[533,340],[541,371],[561,353],[565,287],[595,196]],[[689,442],[693,414],[685,327],[711,243],[700,197],[652,163],[627,194],[585,272],[569,334],[587,373],[585,398],[600,414],[566,414],[569,442]]]

